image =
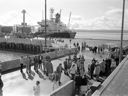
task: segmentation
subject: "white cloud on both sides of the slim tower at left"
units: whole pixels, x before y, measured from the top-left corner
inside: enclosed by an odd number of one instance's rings
[[[12,10],[0,16],[0,25],[13,26],[21,24],[23,21],[22,18],[21,10]],[[26,22],[30,25],[37,25],[37,20],[31,17],[28,13],[26,13]]]

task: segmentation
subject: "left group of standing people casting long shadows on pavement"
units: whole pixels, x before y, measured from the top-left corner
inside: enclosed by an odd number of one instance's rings
[[[20,59],[20,72],[23,74],[23,68],[26,68],[26,73],[32,75],[33,71],[31,70],[32,65],[34,66],[34,71],[39,74],[40,71],[43,72],[46,76],[50,76],[53,73],[53,65],[51,63],[50,56],[43,58],[42,55],[36,56],[21,56]],[[40,70],[40,71],[39,71]]]

